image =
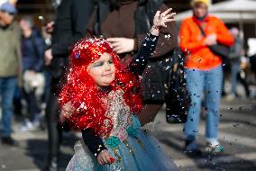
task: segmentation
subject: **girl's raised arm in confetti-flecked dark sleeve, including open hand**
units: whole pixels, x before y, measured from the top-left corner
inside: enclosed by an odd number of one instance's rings
[[[155,14],[150,33],[148,33],[148,36],[143,41],[138,54],[133,58],[129,65],[129,69],[134,74],[142,75],[145,67],[147,66],[148,60],[151,58],[151,54],[156,48],[158,36],[160,34],[160,27],[167,27],[166,23],[175,21],[175,19],[172,18],[175,13],[169,14],[170,11],[171,8],[162,14],[160,14],[160,11]]]

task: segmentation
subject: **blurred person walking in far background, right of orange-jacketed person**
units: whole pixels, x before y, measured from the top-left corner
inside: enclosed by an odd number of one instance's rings
[[[238,79],[242,81],[242,85],[244,86],[247,97],[250,96],[250,90],[245,79],[242,79],[242,77],[240,76],[240,73],[242,73],[242,51],[244,50],[242,46],[242,40],[239,38],[239,30],[233,27],[229,30],[229,32],[233,36],[234,43],[230,49],[229,54],[231,64],[231,92],[225,97],[225,99],[231,101],[238,97],[238,94],[236,92]]]

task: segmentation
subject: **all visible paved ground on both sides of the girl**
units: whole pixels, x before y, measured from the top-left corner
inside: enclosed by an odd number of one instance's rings
[[[203,154],[187,157],[183,153],[182,125],[165,121],[164,107],[155,120],[154,134],[160,139],[180,170],[256,170],[256,101],[223,101],[221,105],[220,141],[225,151],[221,155]],[[204,149],[204,114],[199,130],[199,143]],[[0,144],[0,170],[37,171],[45,164],[47,134],[45,130],[22,132],[20,122],[14,122],[14,138],[19,147],[10,148]],[[78,136],[76,136],[78,137]],[[61,147],[61,170],[68,165],[73,154],[74,134],[65,133]]]

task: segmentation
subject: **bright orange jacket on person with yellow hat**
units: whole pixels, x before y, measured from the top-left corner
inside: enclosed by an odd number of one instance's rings
[[[208,15],[202,23],[194,16],[189,17],[181,23],[179,31],[180,48],[187,54],[186,67],[209,70],[220,66],[222,59],[204,44],[206,38],[202,35],[197,23],[204,28],[206,35],[215,33],[218,42],[227,46],[233,44],[232,35],[220,19]]]

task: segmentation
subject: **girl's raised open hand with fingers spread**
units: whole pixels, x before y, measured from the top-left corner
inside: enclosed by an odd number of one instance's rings
[[[151,27],[151,34],[158,36],[160,27],[167,27],[166,23],[175,21],[173,16],[176,13],[169,14],[169,12],[171,10],[172,10],[172,8],[169,8],[168,10],[164,11],[161,14],[160,14],[160,11],[157,11],[157,13],[155,14],[154,19],[153,19],[153,26]]]

